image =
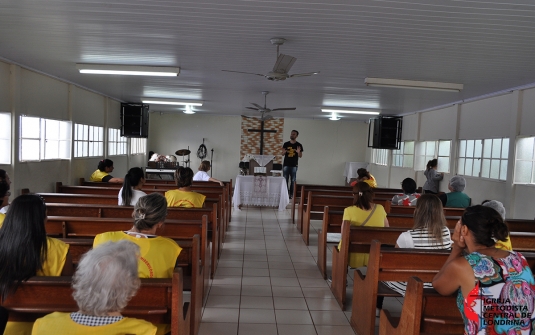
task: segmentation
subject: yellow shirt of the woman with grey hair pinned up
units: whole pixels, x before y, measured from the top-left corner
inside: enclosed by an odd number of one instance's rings
[[[129,240],[140,248],[139,278],[171,278],[176,259],[182,248],[167,237],[135,237],[122,231],[112,231],[95,236],[93,248],[109,241]]]

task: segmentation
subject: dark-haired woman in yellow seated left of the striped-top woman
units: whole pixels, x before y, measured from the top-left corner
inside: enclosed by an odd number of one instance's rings
[[[358,182],[353,186],[354,205],[344,209],[343,220],[351,222],[352,226],[388,227],[388,219],[382,205],[373,203],[373,190],[365,182]],[[343,238],[343,237],[342,237]],[[342,241],[338,245],[341,247]],[[368,265],[369,254],[351,253],[349,266],[359,268]]]

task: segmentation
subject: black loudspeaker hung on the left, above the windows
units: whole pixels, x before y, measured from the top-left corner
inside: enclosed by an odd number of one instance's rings
[[[149,105],[121,104],[121,136],[149,137]]]

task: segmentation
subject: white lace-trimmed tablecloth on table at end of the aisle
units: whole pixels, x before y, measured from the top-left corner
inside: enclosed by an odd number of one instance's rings
[[[232,196],[234,209],[240,205],[278,207],[286,209],[290,203],[284,177],[237,176]]]

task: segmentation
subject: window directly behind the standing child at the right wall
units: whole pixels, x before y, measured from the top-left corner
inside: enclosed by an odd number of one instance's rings
[[[425,170],[427,162],[434,158],[438,158],[438,171],[450,171],[450,152],[451,141],[425,141],[419,142],[416,145],[415,169],[417,171]]]

